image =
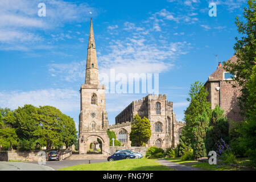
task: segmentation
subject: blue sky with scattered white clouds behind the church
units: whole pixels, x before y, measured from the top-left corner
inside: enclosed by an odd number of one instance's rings
[[[38,16],[38,4],[46,16]],[[217,5],[210,17],[209,3]],[[52,105],[78,126],[79,89],[85,80],[92,12],[101,73],[159,73],[159,93],[174,102],[178,121],[188,106],[190,85],[205,82],[234,54],[239,36],[238,1],[63,1],[0,2],[0,107]],[[133,100],[147,94],[106,94],[109,124]]]

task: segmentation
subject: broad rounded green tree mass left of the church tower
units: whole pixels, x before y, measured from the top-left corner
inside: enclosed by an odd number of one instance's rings
[[[24,105],[14,111],[5,110],[5,128],[0,138],[6,138],[11,132],[10,137],[14,139],[8,140],[13,146],[18,142],[19,150],[34,150],[40,146],[47,146],[49,150],[52,146],[65,144],[67,147],[76,142],[75,122],[55,107]]]

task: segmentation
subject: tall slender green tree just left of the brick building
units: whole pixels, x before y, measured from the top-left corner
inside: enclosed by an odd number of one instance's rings
[[[207,101],[208,92],[203,83],[196,81],[189,91],[190,102],[185,110],[185,140],[191,144],[195,158],[207,156],[205,148],[205,135],[209,126],[211,115],[210,103]]]

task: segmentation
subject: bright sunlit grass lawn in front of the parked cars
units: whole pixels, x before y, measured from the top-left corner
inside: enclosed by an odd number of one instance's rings
[[[174,171],[156,159],[124,159],[113,162],[81,164],[59,169],[59,171]]]

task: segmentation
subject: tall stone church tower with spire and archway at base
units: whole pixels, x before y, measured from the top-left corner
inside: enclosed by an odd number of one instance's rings
[[[92,146],[91,143],[101,149],[101,154],[108,154],[109,137],[106,133],[108,114],[105,104],[105,85],[100,85],[98,76],[92,18],[90,19],[85,84],[81,85],[80,104],[79,154],[88,154],[88,150]]]

